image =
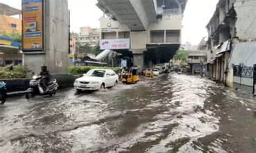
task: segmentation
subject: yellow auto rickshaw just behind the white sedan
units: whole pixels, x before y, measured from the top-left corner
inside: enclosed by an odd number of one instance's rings
[[[122,73],[120,80],[123,84],[136,84],[139,81],[138,68],[133,67],[130,72]]]

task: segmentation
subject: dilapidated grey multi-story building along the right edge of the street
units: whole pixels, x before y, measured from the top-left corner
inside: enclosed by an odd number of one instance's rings
[[[220,0],[208,30],[208,73],[228,86],[253,86],[256,1]],[[239,72],[235,67],[240,67]],[[239,76],[237,76],[239,75]]]

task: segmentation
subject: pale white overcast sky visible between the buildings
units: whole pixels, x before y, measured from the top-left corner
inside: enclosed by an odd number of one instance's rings
[[[21,0],[0,0],[14,8],[21,9]],[[71,31],[79,32],[80,26],[99,27],[103,13],[95,5],[97,0],[69,0],[71,10]],[[218,0],[188,0],[183,20],[182,43],[197,45],[207,36],[205,29],[215,10]]]

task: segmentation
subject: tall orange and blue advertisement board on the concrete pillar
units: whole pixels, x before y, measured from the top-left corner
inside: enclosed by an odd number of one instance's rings
[[[22,0],[23,51],[43,51],[43,0]]]

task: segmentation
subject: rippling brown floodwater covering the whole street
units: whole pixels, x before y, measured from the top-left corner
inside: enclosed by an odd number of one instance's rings
[[[256,99],[172,73],[0,106],[0,152],[256,152]]]

